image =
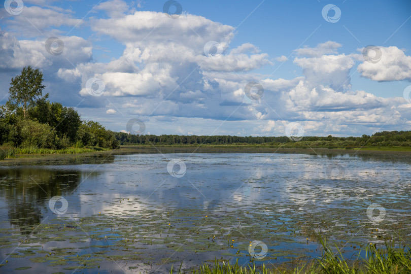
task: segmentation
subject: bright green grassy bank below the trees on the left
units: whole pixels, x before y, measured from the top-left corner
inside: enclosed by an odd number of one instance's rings
[[[65,148],[65,149],[44,149],[44,148],[14,148],[0,146],[0,160],[6,158],[21,158],[24,155],[32,154],[78,154],[86,152],[108,151],[107,148],[87,147],[87,148]]]

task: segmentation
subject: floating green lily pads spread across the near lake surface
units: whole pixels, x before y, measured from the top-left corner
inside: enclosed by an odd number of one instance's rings
[[[291,194],[298,192],[301,189],[289,191]],[[341,194],[343,190],[334,192]],[[319,191],[319,196],[326,197],[326,190]],[[213,256],[224,260],[238,257],[244,261],[249,259],[248,246],[254,240],[267,244],[268,254],[264,260],[270,262],[292,261],[301,254],[313,252],[313,246],[315,250],[317,244],[312,243],[320,242],[320,235],[327,236],[329,242],[335,244],[344,256],[350,256],[351,251],[358,251],[360,244],[365,248],[368,242],[373,245],[385,239],[398,242],[398,235],[403,235],[402,241],[410,241],[410,235],[407,234],[411,227],[407,222],[409,218],[404,218],[402,212],[390,213],[389,220],[376,226],[367,218],[352,214],[356,211],[347,210],[347,206],[341,203],[335,208],[318,209],[315,203],[307,202],[304,209],[301,209],[293,200],[282,204],[259,202],[252,208],[242,204],[229,204],[227,208],[235,211],[228,212],[196,208],[167,211],[164,207],[163,210],[139,209],[137,213],[124,216],[98,214],[75,219],[65,217],[59,218],[58,224],[40,224],[36,233],[29,234],[27,238],[26,235],[19,234],[17,229],[4,231],[15,234],[10,241],[5,238],[0,238],[0,241],[9,246],[11,244],[11,247],[20,245],[14,253],[31,257],[25,260],[56,267],[63,265],[72,270],[77,266],[96,267],[102,260],[135,263],[150,261],[151,264],[157,264],[174,251],[178,252],[179,257],[198,259]],[[138,199],[121,198],[110,204],[112,207],[124,203],[133,206],[140,202]],[[362,201],[355,201],[354,204],[358,208],[364,208]],[[314,209],[317,210],[313,211]],[[393,227],[395,223],[397,225]],[[66,227],[67,225],[71,227]],[[31,230],[31,227],[33,226],[27,225],[26,229]],[[50,247],[50,243],[56,239],[64,239],[64,242],[59,243],[64,248]],[[351,239],[351,242],[347,243],[347,239]],[[48,243],[48,248],[41,250],[43,243],[44,247]],[[356,249],[350,247],[350,244],[354,244]],[[289,245],[293,247],[287,248]],[[34,249],[35,254],[28,252],[28,248]],[[317,253],[320,252],[319,249]],[[168,264],[173,262],[175,261],[166,260]],[[262,262],[256,261],[256,267],[260,267],[259,263]]]

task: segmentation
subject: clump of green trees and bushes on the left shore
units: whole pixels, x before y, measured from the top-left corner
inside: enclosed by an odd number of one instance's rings
[[[114,132],[98,122],[83,121],[73,108],[43,96],[43,73],[26,66],[12,78],[9,100],[0,106],[0,145],[63,149],[116,148]]]

